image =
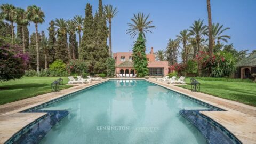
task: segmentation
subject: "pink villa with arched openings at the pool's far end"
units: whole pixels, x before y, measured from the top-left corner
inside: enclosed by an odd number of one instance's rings
[[[132,52],[117,52],[113,54],[116,61],[116,74],[134,74]],[[165,76],[172,71],[171,66],[168,66],[168,61],[156,61],[153,47],[147,54],[149,76]]]

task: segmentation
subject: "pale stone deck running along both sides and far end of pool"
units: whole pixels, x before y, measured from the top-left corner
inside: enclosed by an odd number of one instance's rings
[[[121,78],[111,78],[121,79]],[[131,79],[131,78],[122,78]],[[141,78],[135,78],[141,79]],[[157,82],[155,78],[146,79],[149,82],[153,82],[182,94],[186,94],[189,97],[201,100],[209,103],[213,106],[225,109],[227,111],[203,111],[202,114],[212,118],[214,121],[225,126],[230,132],[232,132],[243,143],[256,143],[256,107],[244,105],[243,103],[230,101],[212,95],[191,92],[190,90],[183,89],[181,87],[167,84],[163,82]],[[50,100],[62,97],[63,95],[85,89],[95,84],[108,81],[103,79],[101,81],[93,81],[88,84],[73,85],[73,87],[60,92],[47,93],[38,95],[20,101],[7,103],[0,105],[0,143],[4,143],[15,133],[21,130],[29,123],[44,116],[46,113],[19,113],[31,107],[41,105],[42,103]]]

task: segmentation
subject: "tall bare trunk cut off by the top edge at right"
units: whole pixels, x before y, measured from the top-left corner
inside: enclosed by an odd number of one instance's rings
[[[207,1],[207,11],[208,11],[208,35],[209,35],[209,55],[212,57],[213,54],[213,39],[212,39],[212,13],[211,13],[211,2]]]

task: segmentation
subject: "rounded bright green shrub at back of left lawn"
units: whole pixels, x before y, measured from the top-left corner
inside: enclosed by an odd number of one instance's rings
[[[62,60],[55,60],[51,65],[49,65],[49,70],[54,74],[66,73],[66,64]]]

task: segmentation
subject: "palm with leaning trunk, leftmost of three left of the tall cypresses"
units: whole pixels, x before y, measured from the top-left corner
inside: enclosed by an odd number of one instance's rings
[[[64,38],[65,38],[65,44],[66,44],[66,47],[68,49],[68,57],[69,57],[69,60],[72,59],[71,57],[71,52],[70,52],[70,49],[68,47],[68,43],[67,43],[67,32],[68,32],[68,23],[65,19],[56,19],[55,20],[56,23],[55,23],[55,26],[57,26],[57,32],[58,34],[61,34]]]

